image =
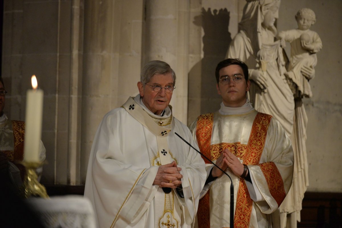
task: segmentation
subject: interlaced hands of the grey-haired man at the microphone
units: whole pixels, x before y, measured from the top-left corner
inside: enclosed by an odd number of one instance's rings
[[[176,188],[182,184],[181,179],[183,175],[180,174],[182,168],[177,167],[175,161],[159,166],[156,178],[153,184],[159,185],[159,187]]]

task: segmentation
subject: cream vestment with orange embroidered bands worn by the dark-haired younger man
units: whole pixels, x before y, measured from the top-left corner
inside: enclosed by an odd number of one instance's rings
[[[248,166],[252,183],[240,179],[229,168],[225,170],[234,184],[234,227],[277,227],[270,214],[288,193],[293,173],[291,142],[279,122],[252,109],[229,115],[220,112],[201,115],[190,129],[201,150],[207,149],[207,157],[213,162],[229,148]],[[212,167],[207,164],[208,174]],[[230,185],[224,174],[205,185],[197,216],[208,219],[198,222],[198,227],[231,227]],[[210,205],[209,210],[201,211],[205,203]]]

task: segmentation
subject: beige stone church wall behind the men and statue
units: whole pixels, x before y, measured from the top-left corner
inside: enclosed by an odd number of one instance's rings
[[[189,124],[219,108],[214,69],[238,31],[244,0],[5,0],[2,76],[5,112],[25,119],[26,90],[36,74],[44,90],[42,182],[84,183],[91,144],[103,115],[138,91],[149,60],[177,75],[175,116]],[[334,0],[283,0],[278,30],[294,14],[315,11],[323,49],[317,54],[308,115],[310,191],[342,192],[341,10]]]

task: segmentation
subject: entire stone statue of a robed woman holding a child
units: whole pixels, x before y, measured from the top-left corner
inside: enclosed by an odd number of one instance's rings
[[[316,22],[311,9],[303,8],[295,15],[297,29],[277,35],[275,22],[280,0],[246,2],[239,32],[230,43],[226,58],[239,58],[247,64],[249,79],[253,81],[249,99],[255,110],[275,117],[291,139],[295,155],[292,186],[279,207],[279,214],[272,216],[274,227],[296,228],[309,184],[305,145],[307,115],[302,99],[312,97],[308,81],[315,76],[316,53],[321,50],[322,42],[310,30]],[[291,44],[287,68],[282,48],[286,42]]]

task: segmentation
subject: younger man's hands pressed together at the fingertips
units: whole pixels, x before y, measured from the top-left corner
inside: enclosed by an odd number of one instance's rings
[[[242,165],[240,160],[231,151],[229,151],[229,149],[225,149],[223,151],[220,157],[216,160],[215,164],[222,170],[226,170],[227,168],[231,169],[232,172],[237,176],[241,176],[242,173],[244,173],[244,165]],[[222,173],[223,172],[221,170],[214,166],[211,175],[213,177],[218,177],[221,176]]]

